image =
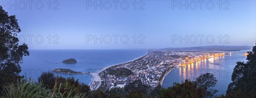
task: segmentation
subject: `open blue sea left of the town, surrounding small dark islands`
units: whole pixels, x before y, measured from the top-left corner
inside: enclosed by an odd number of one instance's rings
[[[147,54],[145,50],[29,50],[30,55],[23,58],[21,73],[26,77],[37,78],[43,71],[51,71],[55,68],[67,68],[79,72],[94,72],[100,68],[113,64],[121,64],[132,61]],[[76,59],[76,64],[61,63],[64,59]],[[57,73],[55,73],[57,75]],[[90,74],[64,74],[65,78],[73,76],[80,82],[90,84]]]

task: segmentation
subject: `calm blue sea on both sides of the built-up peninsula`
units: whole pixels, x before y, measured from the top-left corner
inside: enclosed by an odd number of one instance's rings
[[[192,63],[186,67],[174,68],[167,74],[163,80],[163,87],[172,86],[173,82],[181,83],[185,79],[195,81],[195,78],[201,73],[213,73],[218,80],[215,89],[219,90],[215,95],[225,94],[228,84],[231,82],[233,68],[237,61],[245,61],[246,57],[242,56],[248,50],[232,51],[231,55],[204,59]],[[222,51],[227,52],[227,51]],[[133,61],[148,52],[140,49],[109,49],[109,50],[29,50],[30,55],[23,57],[23,64],[20,75],[31,77],[37,81],[43,71],[51,71],[55,68],[67,68],[82,73],[93,73],[100,68],[105,68],[114,64],[121,64]],[[64,64],[65,59],[74,58],[76,64]],[[55,72],[54,72],[55,73]],[[55,76],[57,73],[55,73]],[[73,76],[79,79],[79,82],[90,84],[93,77],[90,74],[64,74],[59,76],[65,78]]]

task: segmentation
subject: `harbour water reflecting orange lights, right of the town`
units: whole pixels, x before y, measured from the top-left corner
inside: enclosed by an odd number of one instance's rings
[[[231,82],[231,76],[236,62],[246,62],[246,57],[243,56],[243,53],[246,53],[246,51],[248,50],[232,51],[235,54],[204,59],[189,64],[186,67],[175,68],[163,80],[163,87],[170,87],[173,85],[173,82],[181,83],[185,79],[195,81],[201,73],[213,73],[218,80],[215,89],[219,90],[215,95],[225,94],[227,86]]]

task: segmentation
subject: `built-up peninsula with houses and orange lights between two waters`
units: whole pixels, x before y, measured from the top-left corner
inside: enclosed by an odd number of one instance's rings
[[[229,53],[210,51],[148,50],[148,54],[132,62],[118,64],[99,73],[102,84],[99,88],[108,90],[111,86],[124,87],[135,80],[141,80],[152,88],[162,85],[165,76],[175,67],[185,67],[204,59],[224,56]],[[120,72],[119,72],[120,71]],[[118,73],[113,73],[118,72]]]

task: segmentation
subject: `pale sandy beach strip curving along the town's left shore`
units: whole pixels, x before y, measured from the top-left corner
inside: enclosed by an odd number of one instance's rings
[[[147,55],[148,55],[148,50],[145,50],[145,51],[147,51],[147,53],[146,53],[145,55],[140,56],[140,57],[138,57],[138,58],[135,58],[135,59],[133,59],[133,60],[131,60],[131,61],[121,63],[121,64],[126,64],[126,63],[129,63],[129,62],[134,62],[134,61],[136,61],[136,60],[138,60],[138,59],[143,58],[144,56],[147,56]],[[91,84],[93,84],[94,81],[99,81],[99,85],[96,87],[96,90],[97,90],[97,89],[99,88],[99,86],[102,84],[102,81],[103,81],[102,77],[99,76],[99,74],[100,74],[102,71],[106,70],[107,68],[113,67],[113,66],[116,66],[116,65],[119,65],[119,64],[109,65],[109,66],[107,66],[107,67],[104,67],[104,68],[98,70],[98,71],[95,72],[95,73],[90,73],[90,74],[93,76],[92,81],[91,81],[90,84],[89,84],[89,85],[90,85],[90,89],[92,90],[93,87],[91,87]]]

